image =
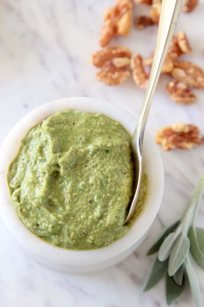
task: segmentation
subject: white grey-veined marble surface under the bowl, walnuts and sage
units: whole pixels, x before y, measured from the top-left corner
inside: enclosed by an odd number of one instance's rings
[[[0,3],[0,144],[12,126],[32,109],[67,96],[90,96],[113,102],[138,114],[144,92],[129,79],[119,87],[95,80],[89,55],[99,48],[98,37],[105,8],[113,1],[3,0]],[[149,7],[135,6],[135,15]],[[177,30],[185,30],[193,53],[183,58],[204,68],[204,1],[191,14],[181,14]],[[133,52],[148,56],[157,27],[133,29],[127,38],[115,38]],[[159,81],[147,127],[155,136],[161,126],[194,123],[204,132],[204,91],[198,101],[179,106],[165,94],[169,76]],[[141,287],[154,257],[145,251],[152,240],[183,211],[204,170],[203,146],[192,151],[161,151],[165,171],[164,197],[145,243],[119,265],[96,274],[68,275],[47,269],[29,258],[0,220],[0,306],[143,306],[164,307],[164,281],[148,293]],[[203,225],[200,209],[198,225]],[[204,272],[195,264],[204,301]],[[177,304],[193,306],[186,293]]]

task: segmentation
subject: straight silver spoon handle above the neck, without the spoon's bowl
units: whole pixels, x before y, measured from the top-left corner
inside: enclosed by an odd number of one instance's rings
[[[179,18],[183,0],[163,0],[161,5],[161,14],[157,33],[156,48],[153,57],[152,69],[149,76],[145,97],[140,109],[136,128],[132,142],[135,146],[139,144],[140,155],[142,156],[143,138],[149,110],[151,107],[153,95],[161,73],[164,60],[172,40],[174,30]]]

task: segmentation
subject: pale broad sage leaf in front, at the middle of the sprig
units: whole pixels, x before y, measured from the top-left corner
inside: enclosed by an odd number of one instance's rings
[[[168,274],[172,276],[176,273],[179,267],[184,262],[190,249],[190,240],[188,237],[180,235],[176,240],[172,249],[169,262],[168,262]]]

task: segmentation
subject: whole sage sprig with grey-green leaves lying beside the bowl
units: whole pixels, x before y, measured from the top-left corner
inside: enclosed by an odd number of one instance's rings
[[[204,269],[204,229],[195,227],[202,193],[204,174],[199,179],[193,195],[180,220],[164,230],[146,255],[158,256],[146,278],[143,292],[152,289],[166,274],[166,302],[173,305],[186,289],[188,280],[196,307],[201,307],[198,278],[188,257],[189,251]]]

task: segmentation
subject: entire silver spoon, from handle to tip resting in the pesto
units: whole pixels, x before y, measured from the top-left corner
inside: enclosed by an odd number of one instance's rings
[[[143,171],[143,138],[149,110],[151,107],[153,95],[157,86],[157,82],[161,73],[161,68],[168,51],[168,47],[172,40],[174,30],[179,18],[179,12],[183,0],[163,0],[161,5],[161,14],[159,19],[159,27],[157,33],[157,42],[154,52],[152,69],[149,76],[149,82],[145,93],[145,98],[140,109],[136,128],[132,138],[132,153],[134,161],[134,196],[132,203],[128,210],[124,224],[127,224],[133,215],[134,208],[137,205],[140,187],[142,184],[142,171]],[[151,154],[151,153],[150,153]]]

